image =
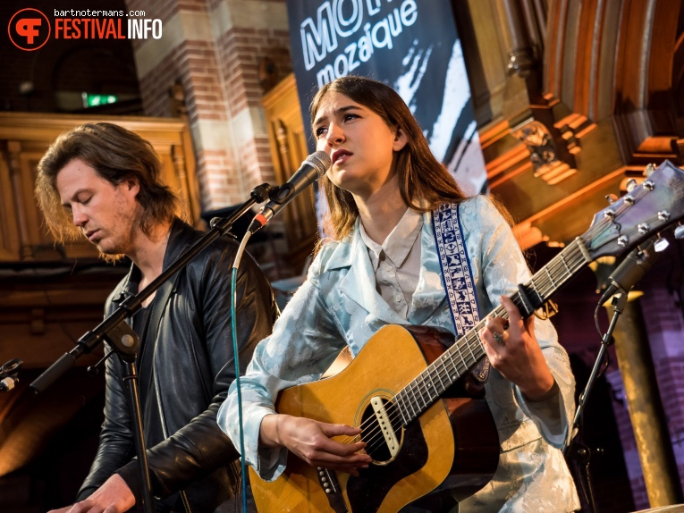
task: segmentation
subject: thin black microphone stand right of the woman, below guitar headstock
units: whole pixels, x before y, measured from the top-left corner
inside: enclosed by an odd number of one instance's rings
[[[591,475],[589,473],[589,459],[591,458],[591,450],[577,440],[579,434],[579,424],[581,422],[581,417],[584,415],[584,409],[587,405],[589,394],[591,394],[591,391],[594,389],[596,379],[598,379],[598,376],[601,374],[601,365],[606,356],[606,352],[608,351],[608,348],[615,342],[615,339],[612,337],[612,332],[615,330],[615,326],[618,324],[618,319],[627,305],[627,295],[627,291],[621,290],[619,294],[615,294],[612,297],[611,302],[613,306],[613,312],[611,323],[609,324],[608,329],[604,333],[604,336],[601,340],[601,349],[599,349],[598,355],[596,356],[594,368],[592,368],[591,374],[589,375],[587,385],[585,386],[584,391],[579,395],[578,407],[575,411],[575,418],[572,421],[572,426],[570,427],[570,444],[565,442],[563,443],[562,448],[562,453],[564,456],[573,458],[580,464],[580,468],[582,470],[580,477],[583,478],[584,482],[587,484],[587,502],[589,503],[589,509],[592,511],[592,513],[595,513],[596,506],[594,502],[594,492],[592,492],[591,488]]]

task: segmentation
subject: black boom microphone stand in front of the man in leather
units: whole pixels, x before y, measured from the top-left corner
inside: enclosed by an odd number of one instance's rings
[[[277,192],[277,188],[275,189]],[[127,374],[123,377],[124,381],[129,383],[129,395],[131,398],[131,413],[133,415],[134,423],[134,438],[136,453],[138,455],[139,472],[142,478],[142,493],[143,493],[143,507],[145,513],[153,513],[154,502],[152,498],[152,486],[149,478],[149,467],[147,451],[145,448],[145,439],[143,437],[142,418],[140,415],[140,401],[138,390],[138,374],[136,373],[135,361],[138,356],[138,349],[140,345],[138,335],[132,330],[131,326],[124,322],[124,319],[135,315],[142,307],[145,299],[152,295],[159,287],[167,282],[175,273],[182,267],[188,264],[194,256],[196,256],[202,249],[207,248],[214,240],[224,235],[231,230],[232,224],[245,214],[251,206],[256,203],[263,203],[274,193],[272,188],[267,183],[259,185],[252,190],[250,198],[237,208],[229,217],[214,218],[211,221],[211,230],[207,231],[197,242],[190,248],[182,252],[176,260],[169,265],[156,279],[149,283],[147,287],[140,290],[135,296],[122,301],[121,305],[112,312],[102,323],[98,324],[91,332],[86,332],[76,342],[76,347],[68,353],[64,353],[62,357],[57,359],[52,366],[49,366],[43,374],[40,374],[33,383],[30,383],[30,389],[35,393],[45,391],[52,383],[61,377],[66,371],[76,364],[76,360],[85,353],[96,349],[103,341],[109,343],[115,352],[126,364]],[[106,357],[108,357],[107,355]],[[237,357],[237,355],[235,355]]]

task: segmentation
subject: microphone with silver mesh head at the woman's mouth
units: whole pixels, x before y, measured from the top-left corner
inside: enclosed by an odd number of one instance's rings
[[[291,176],[291,179],[278,189],[274,198],[266,203],[260,213],[254,216],[254,219],[249,224],[249,233],[253,235],[255,231],[263,228],[275,214],[281,211],[283,206],[291,202],[292,198],[323,176],[323,173],[327,171],[330,164],[333,164],[333,162],[325,151],[317,151],[309,155],[301,163],[300,169]]]

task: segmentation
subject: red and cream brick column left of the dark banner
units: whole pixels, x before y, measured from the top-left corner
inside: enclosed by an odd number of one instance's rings
[[[284,0],[126,0],[163,22],[160,39],[133,40],[145,114],[169,116],[168,89],[186,96],[203,209],[241,203],[274,182],[258,65],[291,71]]]

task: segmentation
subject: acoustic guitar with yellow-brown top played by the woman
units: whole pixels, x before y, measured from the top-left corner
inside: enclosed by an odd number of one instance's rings
[[[666,161],[519,285],[511,299],[521,315],[533,315],[597,257],[620,256],[671,228],[684,217],[683,197],[684,172]],[[506,316],[501,306],[493,313]],[[447,478],[462,497],[477,492],[499,454],[485,399],[472,397],[464,381],[485,357],[477,334],[485,322],[452,344],[425,327],[384,326],[339,374],[282,391],[279,413],[360,426],[373,464],[353,476],[311,467],[290,453],[273,482],[250,468],[258,510],[395,513]]]

